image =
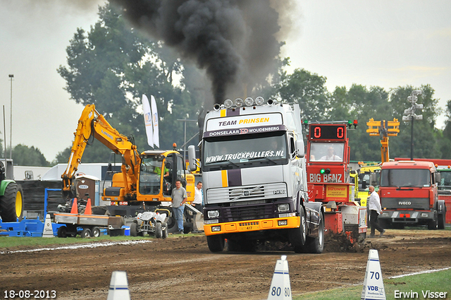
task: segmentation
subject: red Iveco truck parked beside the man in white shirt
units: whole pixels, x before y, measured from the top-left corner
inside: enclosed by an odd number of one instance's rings
[[[433,162],[384,162],[378,192],[383,227],[427,225],[431,230],[444,229],[446,207],[445,201],[438,199],[438,182],[440,175]]]

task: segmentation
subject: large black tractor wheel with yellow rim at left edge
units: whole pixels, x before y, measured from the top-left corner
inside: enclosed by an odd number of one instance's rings
[[[4,196],[0,196],[0,216],[3,222],[22,220],[22,197],[22,188],[16,182],[11,182],[6,186]]]

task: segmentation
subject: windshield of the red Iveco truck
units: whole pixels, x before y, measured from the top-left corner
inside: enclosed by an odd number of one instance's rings
[[[431,172],[428,169],[383,169],[381,186],[431,186]]]

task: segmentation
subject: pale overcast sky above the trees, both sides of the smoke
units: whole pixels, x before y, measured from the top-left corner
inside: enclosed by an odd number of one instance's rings
[[[305,68],[325,76],[329,91],[353,83],[385,90],[430,84],[440,107],[451,100],[451,1],[294,2],[295,23],[283,49],[283,56],[291,59],[288,71]],[[66,64],[66,47],[75,30],[89,30],[102,3],[0,0],[0,116],[4,106],[6,145],[11,123],[9,74],[14,75],[13,147],[35,146],[51,161],[72,144],[83,106],[69,99],[56,69]],[[444,120],[438,119],[438,128]],[[366,121],[359,120],[362,130]],[[3,121],[0,131],[4,139]]]

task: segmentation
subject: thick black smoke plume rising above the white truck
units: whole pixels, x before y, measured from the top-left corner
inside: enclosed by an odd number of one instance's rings
[[[110,0],[135,28],[205,69],[216,102],[243,96],[276,70],[282,43],[270,0]],[[278,8],[286,6],[280,1]]]

